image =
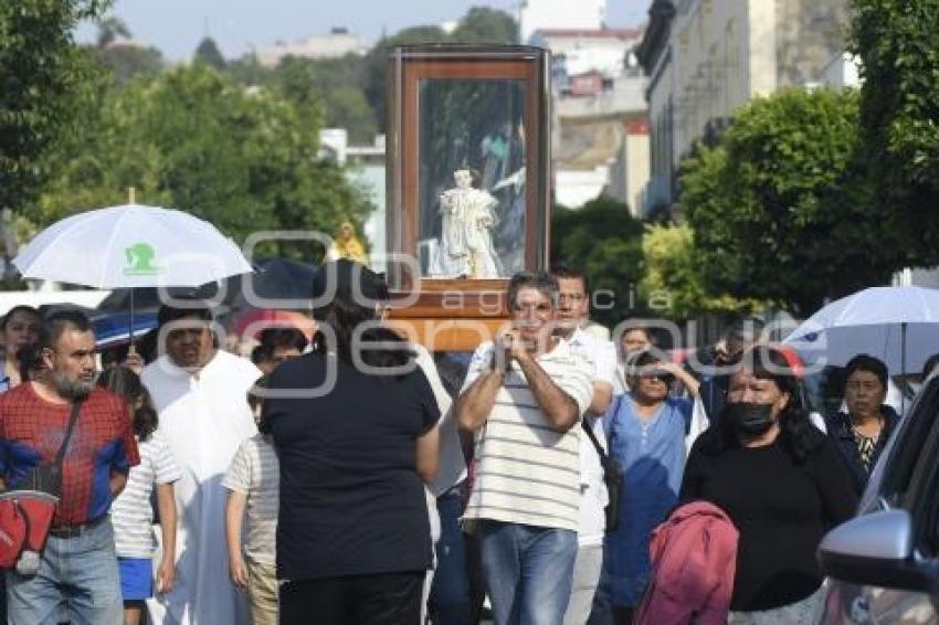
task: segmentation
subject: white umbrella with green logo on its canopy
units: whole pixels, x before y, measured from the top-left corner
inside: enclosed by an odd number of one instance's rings
[[[196,287],[252,271],[239,246],[212,224],[182,211],[135,203],[55,222],[13,265],[24,278],[130,288],[131,328],[135,287]]]

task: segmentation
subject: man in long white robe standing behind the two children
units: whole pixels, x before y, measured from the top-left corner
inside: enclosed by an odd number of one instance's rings
[[[175,485],[176,584],[148,602],[150,616],[157,625],[246,624],[246,596],[228,576],[221,481],[241,442],[257,432],[246,393],[261,371],[215,347],[208,308],[163,306],[158,317],[165,353],[141,379],[182,478]]]

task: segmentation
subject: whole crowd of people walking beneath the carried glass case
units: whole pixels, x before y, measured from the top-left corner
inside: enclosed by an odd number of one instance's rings
[[[103,371],[83,314],[3,317],[3,488],[65,441],[10,623],[462,625],[486,597],[497,625],[819,618],[815,549],[901,419],[883,362],[820,419],[752,319],[676,362],[647,328],[611,340],[568,267],[516,274],[498,336],[432,354],[383,324],[380,275],[331,264],[312,340],[272,328],[250,359],[197,299]],[[660,592],[675,562],[697,584]]]

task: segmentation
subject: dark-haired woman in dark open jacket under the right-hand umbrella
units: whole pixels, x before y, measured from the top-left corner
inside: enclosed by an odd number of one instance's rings
[[[841,452],[861,497],[871,469],[880,457],[900,417],[886,405],[887,366],[873,356],[862,353],[845,366],[844,402],[847,412],[825,419],[829,436]]]

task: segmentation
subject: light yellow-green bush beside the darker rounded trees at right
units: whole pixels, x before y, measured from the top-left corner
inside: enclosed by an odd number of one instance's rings
[[[642,240],[645,275],[637,295],[650,312],[663,319],[685,321],[710,312],[762,309],[766,304],[730,295],[709,296],[695,255],[695,234],[687,224],[655,224]]]

